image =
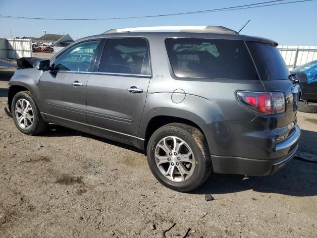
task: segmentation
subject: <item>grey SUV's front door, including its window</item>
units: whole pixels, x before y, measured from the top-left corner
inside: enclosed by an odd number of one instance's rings
[[[99,40],[74,45],[59,55],[52,71],[40,78],[44,114],[68,127],[90,130],[86,119],[86,84]]]

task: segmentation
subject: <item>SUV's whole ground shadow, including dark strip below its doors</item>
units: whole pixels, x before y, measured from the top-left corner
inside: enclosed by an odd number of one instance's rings
[[[41,134],[41,136],[53,137],[78,135],[144,154],[144,151],[131,145],[126,145],[55,124],[50,124],[49,129],[45,133]],[[310,140],[309,142],[307,141],[308,138]],[[317,132],[302,130],[299,150],[305,149],[307,146],[314,146],[314,141],[317,141]],[[308,143],[310,143],[311,146]],[[315,154],[317,154],[316,151]],[[291,196],[316,196],[317,163],[298,160],[295,158],[277,173],[264,177],[212,174],[201,187],[191,193],[223,194],[236,193],[246,190],[254,190],[263,193],[278,193]]]

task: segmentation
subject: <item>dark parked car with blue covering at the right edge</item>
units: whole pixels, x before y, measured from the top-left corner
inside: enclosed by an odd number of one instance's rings
[[[317,60],[305,63],[292,72],[298,76],[302,88],[298,110],[317,113]]]

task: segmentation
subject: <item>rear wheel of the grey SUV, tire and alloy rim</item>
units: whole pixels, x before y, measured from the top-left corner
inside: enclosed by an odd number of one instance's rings
[[[169,147],[166,149],[164,144]],[[168,153],[166,153],[167,150]],[[177,151],[176,155],[174,155],[175,151]],[[187,155],[189,157],[186,157]],[[186,124],[170,123],[157,129],[149,139],[147,157],[154,177],[164,186],[180,192],[189,192],[198,188],[208,179],[212,171],[206,137],[199,129]],[[164,162],[158,165],[160,161]],[[172,167],[174,169],[170,169]],[[167,171],[173,172],[163,175]],[[180,173],[180,171],[190,174]]]

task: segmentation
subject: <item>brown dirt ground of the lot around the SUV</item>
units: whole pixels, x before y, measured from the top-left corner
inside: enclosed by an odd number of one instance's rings
[[[3,111],[0,70],[0,237],[316,237],[317,163],[274,175],[212,175],[191,193],[167,189],[133,147],[51,125],[18,131]],[[298,113],[300,151],[317,157],[317,115]],[[211,194],[215,200],[206,201]]]

